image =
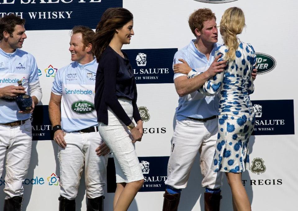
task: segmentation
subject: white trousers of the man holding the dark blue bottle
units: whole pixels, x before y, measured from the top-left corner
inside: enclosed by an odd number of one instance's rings
[[[31,122],[20,126],[0,124],[0,175],[6,154],[5,199],[23,195],[23,181],[28,173],[32,145]]]

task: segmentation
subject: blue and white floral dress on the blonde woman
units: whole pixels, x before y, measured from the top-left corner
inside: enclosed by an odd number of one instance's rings
[[[217,48],[215,55],[224,60],[228,47]],[[249,94],[254,92],[252,70],[256,54],[250,44],[239,43],[236,59],[225,71],[216,74],[199,89],[213,96],[219,92],[219,122],[212,168],[215,172],[243,172],[249,168],[248,140],[255,125],[255,113]],[[189,73],[188,76],[196,75]]]

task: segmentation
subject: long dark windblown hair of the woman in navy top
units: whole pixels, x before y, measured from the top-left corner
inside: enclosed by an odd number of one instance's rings
[[[133,14],[127,9],[117,7],[108,8],[97,24],[95,36],[93,40],[94,55],[99,62],[102,52],[111,42],[116,29],[122,28],[129,21],[133,20]]]

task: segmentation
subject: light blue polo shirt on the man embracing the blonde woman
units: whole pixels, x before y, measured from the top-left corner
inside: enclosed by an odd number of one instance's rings
[[[175,53],[173,65],[182,63],[178,59],[183,59],[192,69],[195,69],[197,72],[204,72],[212,64],[215,50],[220,45],[217,43],[213,45],[209,60],[207,60],[205,54],[196,49],[194,41],[192,40],[187,46]],[[174,80],[179,76],[186,75],[177,73],[174,75]],[[178,103],[179,105],[176,108],[177,120],[181,121],[187,117],[204,119],[218,115],[219,95],[205,96],[199,91],[194,91],[191,94],[179,97]]]

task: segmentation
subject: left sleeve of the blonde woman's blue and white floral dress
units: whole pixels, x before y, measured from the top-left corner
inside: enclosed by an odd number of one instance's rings
[[[215,51],[216,56],[218,56],[219,54],[221,54],[221,57],[217,60],[217,62],[224,60],[224,56],[226,54],[226,48],[224,48],[224,46],[221,46],[219,49],[217,49]],[[228,68],[228,64],[225,69],[227,69],[227,68]],[[225,73],[225,71],[217,73],[215,76],[213,76],[212,78],[207,80],[205,82],[205,84],[203,86],[201,86],[199,91],[204,95],[214,96],[216,93],[218,93],[219,89],[221,88],[221,86],[223,84],[224,73]]]

